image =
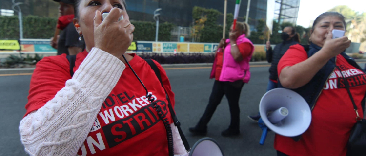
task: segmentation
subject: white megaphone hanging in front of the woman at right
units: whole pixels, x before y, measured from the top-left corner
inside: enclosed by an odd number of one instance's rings
[[[259,113],[270,130],[286,137],[303,134],[311,122],[311,110],[305,99],[285,88],[266,92],[259,104]]]

